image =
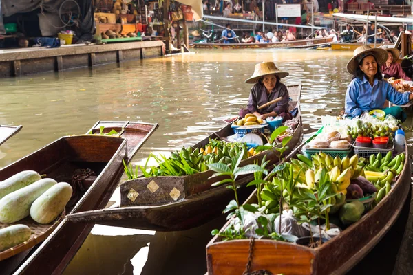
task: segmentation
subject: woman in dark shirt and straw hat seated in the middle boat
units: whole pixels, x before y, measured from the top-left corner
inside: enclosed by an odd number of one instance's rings
[[[244,118],[247,113],[253,113],[262,120],[268,117],[281,116],[285,120],[290,120],[293,116],[288,113],[288,91],[286,85],[280,79],[288,76],[287,72],[282,72],[273,62],[263,62],[255,65],[253,76],[245,80],[246,83],[253,83],[251,93],[248,98],[246,109],[240,110],[240,117]],[[281,97],[282,99],[267,107],[258,107],[272,100]]]

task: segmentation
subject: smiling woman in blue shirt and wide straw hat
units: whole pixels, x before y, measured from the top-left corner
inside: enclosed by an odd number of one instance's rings
[[[346,113],[353,117],[364,111],[383,109],[386,114],[405,120],[401,107],[385,108],[385,100],[396,105],[407,104],[413,100],[412,93],[399,93],[390,83],[383,80],[380,66],[388,59],[384,49],[372,49],[363,45],[354,50],[353,57],[347,64],[347,71],[353,75],[346,93]]]

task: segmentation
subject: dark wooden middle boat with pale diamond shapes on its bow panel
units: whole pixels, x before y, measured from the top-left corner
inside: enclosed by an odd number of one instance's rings
[[[290,109],[299,108],[299,97],[301,94],[301,84],[288,87],[290,97],[294,98],[290,103]],[[301,113],[298,113],[300,123],[293,133],[286,154],[293,150],[301,139]],[[224,129],[213,133],[210,137],[227,137],[232,135],[231,124]],[[207,138],[201,144],[207,144]],[[266,159],[271,160],[271,164],[278,162],[278,154],[275,150],[266,151],[242,161],[242,165],[253,164],[254,160],[260,161],[266,155]],[[199,173],[213,175],[212,171]],[[187,230],[195,226],[206,223],[217,217],[225,208],[226,203],[233,196],[233,191],[226,186],[211,188],[217,179],[208,179],[202,175],[194,175],[191,180],[184,182],[179,177],[165,177],[163,181],[157,178],[148,178],[144,181],[126,181],[120,186],[122,201],[120,206],[112,206],[101,210],[87,212],[76,212],[67,216],[73,222],[98,223],[103,225],[122,226],[126,228],[140,228],[147,230],[176,231]],[[241,178],[237,184],[245,185],[251,181],[251,175]],[[182,177],[180,177],[182,178]],[[156,181],[156,182],[155,182]],[[156,186],[155,186],[156,185]],[[174,188],[179,192],[178,197],[172,198]],[[149,190],[150,189],[150,190]],[[129,196],[137,191],[138,201],[133,203]],[[136,194],[136,193],[135,193]]]

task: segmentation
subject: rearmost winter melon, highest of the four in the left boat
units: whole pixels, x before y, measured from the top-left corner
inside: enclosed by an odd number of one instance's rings
[[[39,173],[31,170],[22,171],[0,182],[0,199],[41,179]]]

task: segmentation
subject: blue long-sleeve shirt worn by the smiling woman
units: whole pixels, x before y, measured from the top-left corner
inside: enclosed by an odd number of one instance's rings
[[[364,111],[382,109],[385,100],[403,105],[409,102],[410,93],[399,93],[390,83],[374,78],[373,87],[366,77],[354,78],[347,87],[346,113],[359,116]]]

